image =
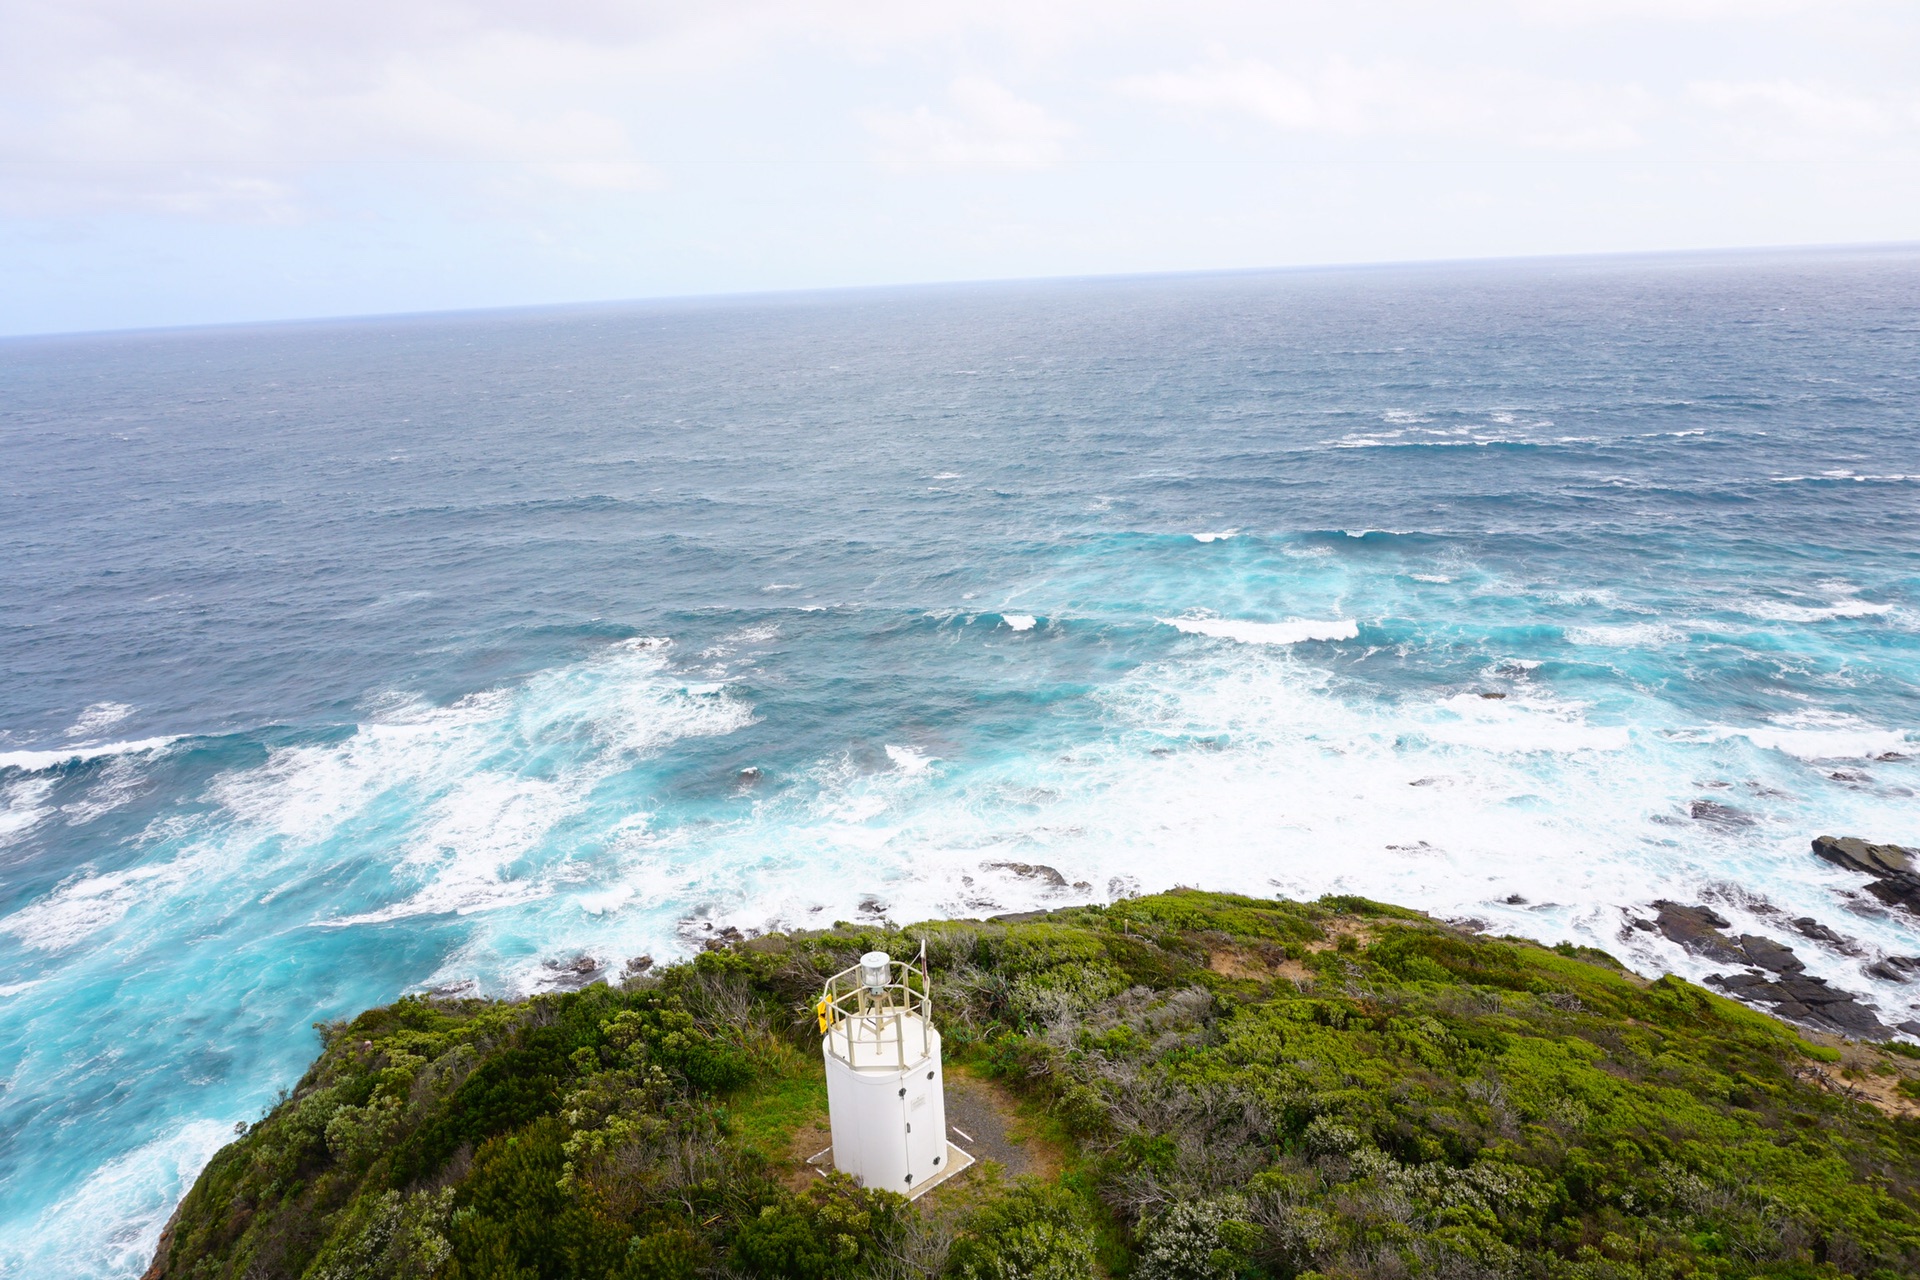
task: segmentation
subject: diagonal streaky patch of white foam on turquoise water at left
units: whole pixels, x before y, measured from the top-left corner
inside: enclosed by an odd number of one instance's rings
[[[390,700],[344,741],[276,748],[263,766],[217,777],[215,814],[156,821],[152,862],[75,877],[0,919],[0,931],[58,952],[209,883],[232,890],[221,900],[273,898],[286,877],[326,877],[369,858],[388,864],[392,894],[315,923],[545,898],[580,879],[551,844],[603,779],[685,737],[753,722],[724,685],[682,685],[666,652],[666,641],[641,637],[451,706]]]

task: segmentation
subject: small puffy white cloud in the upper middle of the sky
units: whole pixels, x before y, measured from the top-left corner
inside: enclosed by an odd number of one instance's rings
[[[872,111],[868,132],[876,157],[887,165],[964,165],[987,169],[1048,169],[1066,155],[1075,129],[1046,107],[1010,88],[960,77],[947,88],[950,111]]]

